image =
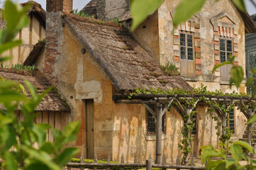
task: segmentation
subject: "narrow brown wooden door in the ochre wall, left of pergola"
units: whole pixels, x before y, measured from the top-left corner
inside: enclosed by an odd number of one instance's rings
[[[87,123],[87,159],[94,159],[94,100],[85,100]]]

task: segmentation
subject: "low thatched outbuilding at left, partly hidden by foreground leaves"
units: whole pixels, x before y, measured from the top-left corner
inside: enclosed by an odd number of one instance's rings
[[[13,69],[0,69],[0,77],[3,79],[9,79],[18,82],[25,87],[26,94],[29,96],[30,93],[26,89],[24,79],[30,81],[38,94],[42,94],[43,91],[48,89],[51,85],[43,74],[38,71],[24,72],[23,70],[14,71]],[[35,108],[35,114],[38,116],[35,118],[35,123],[47,123],[53,129],[64,130],[67,125],[67,118],[70,113],[70,108],[67,103],[57,94],[56,91],[50,91],[39,105]],[[23,114],[21,111],[16,111],[18,120],[23,120]],[[52,133],[50,130],[47,132],[47,140],[53,142]]]

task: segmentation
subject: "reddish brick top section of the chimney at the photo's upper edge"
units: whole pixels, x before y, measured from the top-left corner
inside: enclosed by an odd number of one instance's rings
[[[71,13],[73,9],[73,0],[46,0],[46,11]]]

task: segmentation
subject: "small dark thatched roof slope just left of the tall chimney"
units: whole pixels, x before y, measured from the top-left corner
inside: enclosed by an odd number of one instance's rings
[[[29,53],[27,59],[23,63],[23,65],[32,66],[33,64],[35,64],[36,61],[38,60],[38,57],[40,57],[40,54],[43,52],[44,49],[45,49],[45,42],[40,41],[36,43],[33,47],[33,50]]]

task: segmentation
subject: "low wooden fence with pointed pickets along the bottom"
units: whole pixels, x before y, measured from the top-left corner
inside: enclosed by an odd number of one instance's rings
[[[120,170],[125,170],[127,168],[129,169],[134,169],[134,170],[138,170],[138,169],[147,169],[147,170],[152,170],[152,168],[160,168],[162,170],[166,170],[166,169],[205,169],[205,166],[195,166],[194,164],[194,157],[191,157],[191,166],[184,166],[184,165],[180,165],[180,160],[179,160],[179,156],[177,157],[177,164],[176,165],[167,165],[166,164],[166,159],[165,159],[165,154],[163,156],[162,159],[162,164],[153,164],[152,162],[152,158],[151,155],[150,157],[146,160],[145,164],[137,164],[137,158],[135,156],[134,159],[134,164],[125,164],[124,163],[124,157],[122,154],[121,157],[121,163],[120,164],[111,164],[110,163],[110,154],[108,154],[108,161],[107,163],[97,163],[97,157],[96,154],[94,154],[94,163],[84,163],[84,156],[83,156],[83,152],[81,154],[81,162],[80,163],[68,163],[67,164],[67,170],[71,170],[72,168],[75,169],[80,169],[80,170],[84,170],[84,169],[94,169],[97,170],[99,169],[107,169],[107,170],[111,170],[111,168],[116,168],[116,169],[120,169]],[[98,168],[97,168],[98,167]]]

